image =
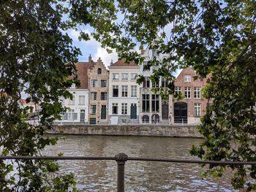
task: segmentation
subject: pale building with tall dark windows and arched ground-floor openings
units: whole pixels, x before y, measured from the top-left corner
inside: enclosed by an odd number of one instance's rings
[[[140,85],[140,123],[171,123],[172,114],[172,96],[164,100],[158,93],[151,91],[151,88],[167,88],[167,81],[162,77],[158,83],[152,83],[150,76],[159,66],[147,67],[154,57],[157,61],[162,61],[168,55],[157,53],[157,50],[141,50],[140,53],[144,57],[143,65],[140,66],[140,74],[145,77],[145,81]]]

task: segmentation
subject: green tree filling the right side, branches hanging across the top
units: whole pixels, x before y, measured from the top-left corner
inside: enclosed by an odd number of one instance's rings
[[[161,66],[151,80],[168,77],[169,93],[173,93],[173,72],[178,68],[192,66],[201,77],[211,74],[204,90],[211,105],[198,126],[204,139],[192,147],[192,155],[205,160],[255,161],[256,2],[120,0],[116,7],[113,1],[99,2],[90,9],[100,15],[96,23],[90,23],[94,38],[139,64],[138,42],[168,53],[169,58],[161,62],[153,57],[150,65]],[[123,15],[122,19],[116,20],[117,15]],[[72,19],[79,18],[83,16]],[[255,165],[210,166],[209,172],[221,176],[227,167],[234,170],[234,188],[256,190]]]

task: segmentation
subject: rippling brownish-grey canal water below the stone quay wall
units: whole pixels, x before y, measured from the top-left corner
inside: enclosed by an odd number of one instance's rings
[[[200,139],[170,137],[59,136],[44,155],[114,156],[196,159],[188,150]],[[79,191],[116,191],[115,161],[59,161],[61,173],[73,173]],[[196,164],[127,161],[125,191],[234,191],[229,177],[200,176]]]

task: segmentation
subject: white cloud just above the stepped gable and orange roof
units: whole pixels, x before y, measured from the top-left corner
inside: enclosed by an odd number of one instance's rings
[[[104,48],[102,48],[100,46],[97,48],[97,52],[92,55],[92,58],[94,61],[97,61],[98,58],[101,58],[103,64],[105,64],[105,66],[110,66],[111,60],[113,60],[113,63],[118,61],[118,55],[117,55],[116,51],[113,51],[113,53],[108,53],[107,50],[105,50]]]

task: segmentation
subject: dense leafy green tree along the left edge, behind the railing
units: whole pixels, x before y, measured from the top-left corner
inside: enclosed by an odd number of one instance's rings
[[[78,85],[74,63],[80,54],[63,28],[61,12],[48,1],[1,1],[1,155],[40,155],[56,143],[44,132],[65,110],[59,96],[71,98],[67,88]],[[39,125],[26,123],[31,108],[18,105],[22,91],[26,101],[40,105]],[[67,191],[75,186],[72,174],[56,174],[54,161],[1,160],[0,166],[1,191]]]

